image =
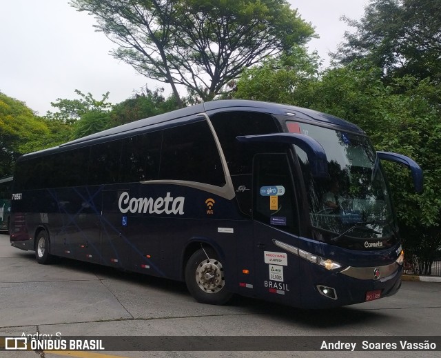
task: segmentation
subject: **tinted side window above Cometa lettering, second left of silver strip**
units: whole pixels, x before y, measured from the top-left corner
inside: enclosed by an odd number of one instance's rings
[[[120,177],[122,182],[158,178],[162,131],[123,139]]]

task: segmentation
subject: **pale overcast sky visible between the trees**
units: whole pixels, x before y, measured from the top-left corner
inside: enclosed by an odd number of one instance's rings
[[[77,12],[68,0],[0,0],[0,92],[19,99],[45,115],[56,109],[50,102],[78,99],[75,89],[95,99],[110,92],[109,101],[119,103],[148,88],[165,88],[130,65],[114,59],[114,43],[95,32],[94,18]],[[336,50],[345,31],[340,17],[360,19],[369,0],[289,0],[320,39],[308,43],[329,64],[328,52]]]

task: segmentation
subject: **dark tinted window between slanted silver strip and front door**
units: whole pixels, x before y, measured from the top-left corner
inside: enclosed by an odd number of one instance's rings
[[[272,151],[268,144],[239,143],[236,137],[280,132],[274,118],[265,113],[223,112],[213,115],[211,120],[231,175],[250,174],[254,155]]]

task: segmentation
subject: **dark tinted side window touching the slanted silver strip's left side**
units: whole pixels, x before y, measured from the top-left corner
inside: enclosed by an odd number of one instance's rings
[[[160,179],[225,184],[219,153],[207,121],[164,130]]]

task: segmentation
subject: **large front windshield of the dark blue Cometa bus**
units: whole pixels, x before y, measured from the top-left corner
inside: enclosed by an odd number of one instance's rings
[[[327,154],[329,176],[312,177],[305,152],[296,147],[307,188],[311,224],[318,237],[351,248],[358,247],[349,244],[354,239],[394,241],[396,222],[389,190],[367,137],[307,123],[291,122],[288,128],[316,139]]]

